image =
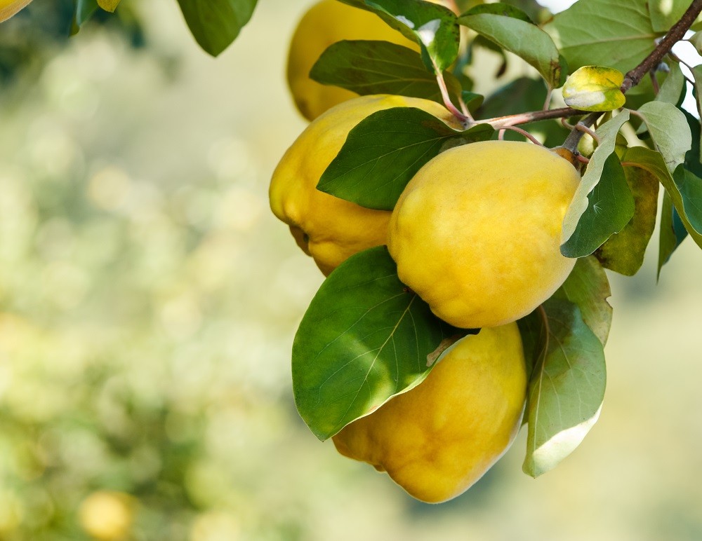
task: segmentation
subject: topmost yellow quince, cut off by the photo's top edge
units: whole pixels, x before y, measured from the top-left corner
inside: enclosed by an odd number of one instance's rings
[[[440,4],[439,0],[431,0]],[[357,94],[338,86],[322,85],[310,78],[310,69],[332,43],[344,39],[390,41],[413,50],[419,46],[392,29],[382,19],[338,0],[314,4],[298,23],[288,53],[287,77],[293,100],[307,120],[314,120],[336,104]]]

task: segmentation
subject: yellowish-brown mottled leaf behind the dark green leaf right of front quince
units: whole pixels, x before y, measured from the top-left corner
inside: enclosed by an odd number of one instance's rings
[[[656,227],[658,179],[641,167],[624,167],[634,196],[634,217],[619,233],[611,235],[595,256],[604,268],[633,276],[644,263],[644,254]]]

